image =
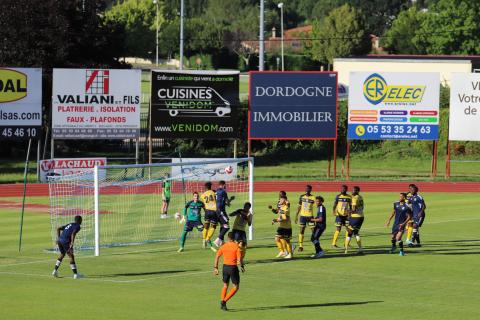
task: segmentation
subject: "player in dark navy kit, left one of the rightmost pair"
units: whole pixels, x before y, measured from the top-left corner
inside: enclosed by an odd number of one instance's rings
[[[403,232],[405,231],[405,226],[412,217],[412,210],[408,206],[406,198],[406,193],[400,193],[400,199],[393,203],[393,212],[386,223],[386,226],[388,227],[390,225],[390,221],[392,221],[392,218],[395,217],[392,227],[392,248],[390,249],[390,253],[395,253],[398,242],[398,246],[400,247],[400,256],[405,255],[403,251],[402,236]]]

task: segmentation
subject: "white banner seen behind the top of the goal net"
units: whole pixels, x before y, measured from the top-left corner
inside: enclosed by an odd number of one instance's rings
[[[225,160],[225,163],[189,165],[189,162]],[[228,158],[173,158],[172,163],[182,163],[172,166],[172,176],[182,177],[187,181],[229,181],[237,178],[237,163],[228,163]]]

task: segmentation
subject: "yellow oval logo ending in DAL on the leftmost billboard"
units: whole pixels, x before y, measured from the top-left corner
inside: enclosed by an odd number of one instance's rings
[[[27,75],[16,70],[0,69],[0,103],[27,96]]]

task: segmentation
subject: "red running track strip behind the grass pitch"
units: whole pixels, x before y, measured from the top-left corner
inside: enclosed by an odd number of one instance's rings
[[[480,182],[389,182],[389,181],[365,181],[365,182],[331,182],[331,181],[257,181],[255,192],[303,192],[306,184],[313,187],[314,192],[338,192],[342,184],[347,184],[349,189],[355,185],[362,192],[406,192],[408,185],[415,183],[420,192],[480,192]],[[0,197],[21,197],[23,184],[0,184]],[[27,196],[48,196],[48,184],[29,184]]]

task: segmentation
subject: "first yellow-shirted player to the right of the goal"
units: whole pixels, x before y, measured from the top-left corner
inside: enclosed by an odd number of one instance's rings
[[[275,235],[275,243],[277,244],[279,253],[276,258],[284,257],[291,259],[293,255],[292,244],[292,221],[290,219],[290,206],[287,204],[287,196],[282,195],[279,199],[279,208],[270,209],[274,213],[278,213],[278,218],[272,220],[272,224],[278,222],[277,234]]]

